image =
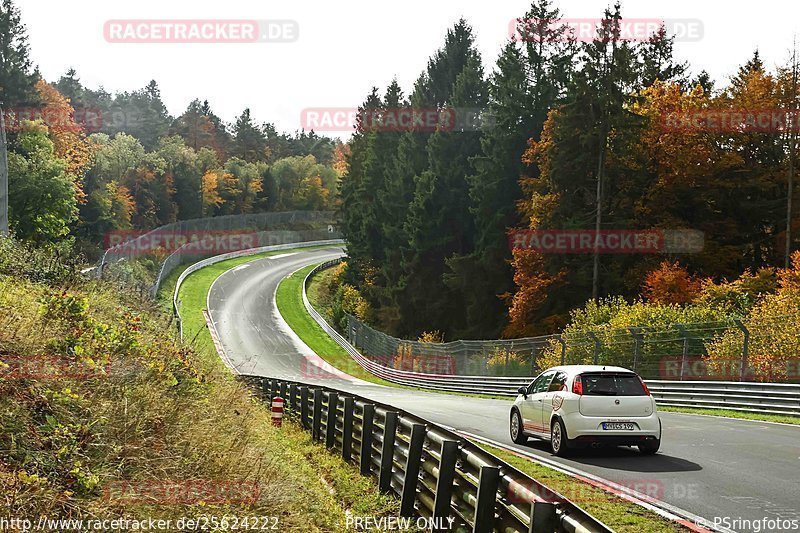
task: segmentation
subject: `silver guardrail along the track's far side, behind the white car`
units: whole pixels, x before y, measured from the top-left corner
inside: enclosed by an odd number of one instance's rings
[[[515,397],[517,389],[529,385],[533,376],[492,377],[422,374],[397,370],[362,355],[347,339],[314,309],[306,294],[309,279],[317,272],[339,263],[340,259],[317,265],[303,284],[303,304],[317,324],[365,370],[391,383],[422,389],[467,394]],[[659,405],[703,407],[735,411],[800,416],[800,385],[738,381],[658,381],[646,380]]]

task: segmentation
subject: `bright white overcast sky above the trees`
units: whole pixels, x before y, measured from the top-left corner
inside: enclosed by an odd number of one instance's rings
[[[568,18],[602,15],[605,0],[560,0]],[[353,107],[373,85],[396,76],[406,91],[441,46],[448,27],[464,17],[477,34],[487,71],[508,38],[509,22],[526,0],[16,0],[28,27],[34,61],[56,80],[74,67],[84,85],[110,92],[155,79],[173,115],[193,98],[232,121],[250,107],[259,122],[300,128],[304,108]],[[769,67],[790,56],[800,31],[798,0],[624,0],[626,18],[699,19],[703,38],[676,44],[693,72],[720,82],[758,48]],[[103,28],[119,19],[293,20],[290,43],[120,44]]]

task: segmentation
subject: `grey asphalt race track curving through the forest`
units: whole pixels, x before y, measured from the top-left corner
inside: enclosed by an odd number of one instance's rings
[[[318,369],[318,358],[280,318],[275,290],[299,268],[339,255],[340,248],[283,254],[217,279],[208,309],[238,372],[325,383],[556,459],[546,443],[512,444],[510,401],[395,389]],[[616,448],[557,461],[627,486],[655,487],[658,494],[651,495],[712,522],[714,517],[800,520],[800,427],[677,413],[662,413],[661,419],[664,438],[655,456]]]

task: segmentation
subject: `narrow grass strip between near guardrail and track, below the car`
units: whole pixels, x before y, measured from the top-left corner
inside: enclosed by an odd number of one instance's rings
[[[540,465],[527,457],[476,442],[478,446],[497,456],[533,479],[560,493],[592,516],[620,533],[667,533],[686,529],[656,513],[623,500],[602,489],[577,480],[552,468]]]

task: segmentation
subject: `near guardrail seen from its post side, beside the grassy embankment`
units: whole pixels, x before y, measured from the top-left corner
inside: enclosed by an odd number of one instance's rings
[[[400,516],[436,519],[442,527],[435,531],[611,531],[544,484],[427,420],[330,387],[242,378],[264,400],[282,397],[285,412],[315,440],[396,494]]]

